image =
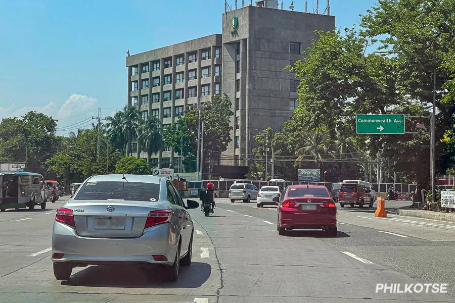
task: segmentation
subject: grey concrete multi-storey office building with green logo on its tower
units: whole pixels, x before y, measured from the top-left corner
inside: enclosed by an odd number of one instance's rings
[[[333,16],[281,10],[270,0],[225,12],[222,35],[126,57],[127,103],[166,126],[187,105],[226,93],[234,111],[232,142],[214,164],[248,165],[259,133],[255,129],[281,129],[297,106],[299,81],[283,68],[302,59],[314,31],[334,27]],[[177,157],[166,147],[152,156],[152,164],[176,167]]]

